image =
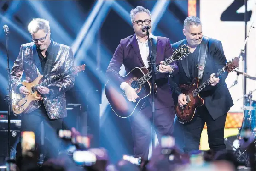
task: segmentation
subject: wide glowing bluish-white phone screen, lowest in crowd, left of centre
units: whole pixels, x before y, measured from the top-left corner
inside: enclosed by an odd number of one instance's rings
[[[96,155],[90,151],[74,151],[73,160],[77,165],[91,166],[96,163]]]

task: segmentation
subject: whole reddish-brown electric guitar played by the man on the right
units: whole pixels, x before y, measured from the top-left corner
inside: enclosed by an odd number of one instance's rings
[[[237,67],[239,67],[239,58],[235,57],[231,61],[227,62],[227,64],[219,70],[214,77],[217,78],[224,72],[231,72]],[[202,83],[200,86],[198,86],[198,84],[199,79],[198,77],[195,77],[189,86],[185,84],[179,85],[181,92],[186,95],[186,101],[188,102],[182,107],[180,107],[178,103],[175,106],[175,114],[182,123],[191,121],[194,117],[196,108],[204,105],[204,99],[199,96],[199,93],[210,85],[210,79]]]

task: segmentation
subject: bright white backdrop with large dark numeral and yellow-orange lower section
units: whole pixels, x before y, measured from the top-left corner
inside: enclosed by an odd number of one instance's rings
[[[248,1],[248,22],[247,33],[250,26],[255,19],[255,1]],[[231,60],[237,57],[240,50],[243,48],[245,41],[245,22],[244,22],[245,6],[243,0],[202,0],[200,1],[200,19],[203,25],[203,34],[218,40],[221,40],[223,50],[227,60]],[[252,29],[247,42],[247,74],[255,77],[255,29]],[[242,62],[239,63],[239,71],[242,70]],[[230,87],[236,80],[236,72],[231,72],[227,79],[227,86]],[[243,100],[240,99],[243,96],[242,88],[243,77],[238,77],[238,83],[229,89],[233,98],[234,106],[230,109],[230,113],[227,115],[225,125],[225,137],[234,136],[238,132],[238,128],[241,127],[243,119]],[[255,89],[255,81],[247,79],[246,94],[250,90]],[[255,92],[253,93],[253,99],[255,100]],[[240,99],[239,101],[237,101]],[[255,113],[254,113],[255,115]],[[255,118],[255,116],[254,116]],[[206,128],[206,127],[205,127]],[[207,130],[204,129],[201,138],[202,150],[209,149]]]

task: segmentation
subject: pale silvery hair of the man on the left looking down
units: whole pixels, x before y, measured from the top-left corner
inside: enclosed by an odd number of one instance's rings
[[[28,26],[29,33],[34,34],[38,30],[44,30],[47,33],[50,30],[49,21],[42,18],[34,18]]]

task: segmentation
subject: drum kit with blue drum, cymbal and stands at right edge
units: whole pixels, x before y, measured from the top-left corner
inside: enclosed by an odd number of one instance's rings
[[[254,21],[252,22],[252,25],[250,27],[249,33],[246,36],[245,42],[244,42],[244,46],[240,51],[239,54],[239,58],[243,57],[244,59],[244,50],[246,47],[246,43],[247,40],[249,38],[250,32],[251,32],[251,28],[254,28],[253,26]],[[243,60],[244,61],[244,60]],[[244,64],[245,61],[242,62],[242,71],[244,71]],[[231,147],[233,148],[233,153],[236,156],[236,160],[238,162],[240,162],[241,164],[245,164],[245,166],[249,166],[250,165],[250,161],[249,161],[249,155],[251,153],[250,150],[248,150],[248,144],[255,144],[255,138],[256,138],[256,130],[255,130],[255,100],[252,100],[252,93],[255,91],[255,89],[253,91],[249,91],[248,94],[246,94],[245,89],[244,89],[244,83],[245,83],[245,79],[251,79],[251,80],[255,80],[255,76],[250,76],[249,74],[247,74],[246,72],[240,72],[237,70],[234,70],[237,73],[237,78],[234,81],[234,83],[232,84],[231,87],[233,87],[234,85],[237,84],[237,80],[239,75],[243,75],[243,97],[241,97],[240,99],[243,99],[243,121],[242,121],[242,126],[241,128],[239,128],[238,134],[236,136],[236,139],[233,141],[233,143],[231,143],[229,141],[228,138],[225,138],[225,141],[231,145]],[[231,88],[230,87],[230,88]],[[240,100],[238,99],[238,100]],[[237,100],[237,101],[238,101]],[[255,153],[254,153],[255,155]]]

